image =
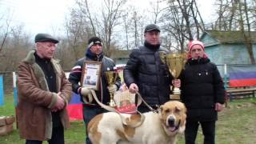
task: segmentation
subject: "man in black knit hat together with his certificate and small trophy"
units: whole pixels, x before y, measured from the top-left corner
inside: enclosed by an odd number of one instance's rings
[[[86,127],[91,118],[107,111],[95,102],[93,93],[103,104],[114,106],[113,94],[121,86],[121,79],[115,73],[114,66],[114,61],[102,53],[102,40],[93,37],[89,39],[86,56],[76,62],[70,73],[69,81],[73,91],[81,95]],[[89,143],[90,139],[86,137],[86,144]]]

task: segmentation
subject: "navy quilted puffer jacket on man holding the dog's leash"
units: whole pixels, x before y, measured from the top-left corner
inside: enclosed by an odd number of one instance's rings
[[[150,105],[161,105],[170,100],[170,83],[173,79],[165,64],[159,58],[162,47],[139,46],[132,50],[124,69],[126,86],[138,85],[142,98]]]

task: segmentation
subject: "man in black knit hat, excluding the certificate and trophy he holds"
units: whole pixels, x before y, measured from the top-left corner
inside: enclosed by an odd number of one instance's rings
[[[108,86],[106,82],[105,72],[107,70],[114,70],[114,61],[110,58],[107,58],[102,52],[102,40],[98,37],[92,37],[88,41],[88,46],[86,50],[86,56],[80,58],[78,62],[74,65],[69,81],[72,83],[72,88],[74,93],[81,95],[82,101],[82,113],[83,120],[86,124],[86,129],[90,119],[94,118],[97,114],[102,114],[107,110],[103,109],[98,103],[93,100],[92,102],[86,102],[86,99],[89,100],[92,97],[91,89],[87,87],[82,87],[79,82],[82,78],[82,67],[85,61],[90,62],[102,62],[102,71],[100,72],[102,77],[100,78],[100,88],[99,90],[94,90],[95,94],[100,102],[105,105],[108,105],[110,102],[110,93],[114,93],[121,86],[121,79],[118,77],[113,86]],[[87,130],[86,130],[86,134]],[[90,144],[90,139],[86,137],[86,144]]]

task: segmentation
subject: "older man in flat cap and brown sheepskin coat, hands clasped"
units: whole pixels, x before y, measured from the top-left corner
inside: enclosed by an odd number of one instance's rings
[[[70,125],[66,106],[71,84],[57,59],[58,40],[37,34],[31,50],[18,66],[18,128],[26,144],[64,144],[64,129]]]

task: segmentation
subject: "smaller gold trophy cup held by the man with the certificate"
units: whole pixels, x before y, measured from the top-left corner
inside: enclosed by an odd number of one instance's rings
[[[106,71],[106,81],[109,86],[114,85],[114,82],[116,82],[118,78],[118,73],[115,71]],[[111,107],[117,106],[116,103],[114,102],[114,93],[110,93],[110,103],[109,105]]]

